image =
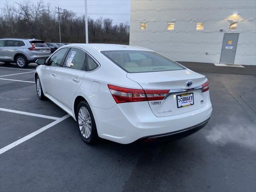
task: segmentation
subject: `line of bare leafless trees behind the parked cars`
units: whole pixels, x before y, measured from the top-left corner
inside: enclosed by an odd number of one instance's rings
[[[0,38],[35,38],[59,42],[58,14],[50,4],[25,0],[11,6],[6,1],[0,15]],[[62,42],[85,42],[85,17],[63,9],[60,14]],[[88,18],[89,43],[129,44],[129,24],[114,24],[110,18]]]

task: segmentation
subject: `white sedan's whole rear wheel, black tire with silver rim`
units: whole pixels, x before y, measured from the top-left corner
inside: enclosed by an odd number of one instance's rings
[[[95,144],[98,142],[98,132],[92,110],[89,104],[85,101],[81,101],[76,109],[76,124],[78,132],[88,144]]]

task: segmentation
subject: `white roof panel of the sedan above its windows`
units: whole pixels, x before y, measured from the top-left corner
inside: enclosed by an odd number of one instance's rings
[[[86,49],[97,49],[98,51],[112,51],[112,50],[138,50],[138,51],[152,51],[150,49],[139,47],[139,46],[130,46],[130,45],[120,45],[120,44],[103,44],[103,43],[76,43],[68,44],[66,47],[76,46]],[[63,46],[64,47],[64,46]]]

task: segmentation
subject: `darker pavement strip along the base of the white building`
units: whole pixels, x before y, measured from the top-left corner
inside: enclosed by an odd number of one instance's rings
[[[252,75],[256,76],[256,66],[243,65],[240,67],[223,67],[215,66],[213,63],[184,62],[178,63],[198,73],[217,73],[217,74],[236,74],[236,75]]]

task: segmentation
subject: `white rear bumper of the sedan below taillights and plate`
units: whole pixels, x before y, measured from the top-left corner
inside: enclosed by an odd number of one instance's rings
[[[148,102],[117,104],[108,110],[93,106],[91,109],[99,137],[122,144],[169,134],[182,138],[205,126],[212,114],[210,100],[197,110],[167,117],[155,116]]]

